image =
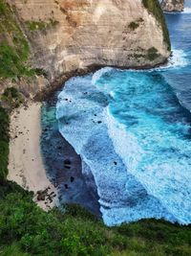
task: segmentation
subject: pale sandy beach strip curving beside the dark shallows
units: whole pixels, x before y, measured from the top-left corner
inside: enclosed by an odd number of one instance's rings
[[[34,200],[44,210],[53,208],[57,197],[51,202],[37,200],[37,191],[48,189],[48,194],[56,195],[56,189],[49,181],[40,152],[40,103],[28,103],[16,109],[11,115],[11,142],[8,179],[24,189],[35,193]]]

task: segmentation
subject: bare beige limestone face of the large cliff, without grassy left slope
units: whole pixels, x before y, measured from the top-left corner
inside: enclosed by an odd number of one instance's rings
[[[41,87],[39,81],[32,84],[35,92],[66,72],[95,65],[150,67],[170,55],[165,25],[142,0],[7,2],[28,38],[32,66],[48,74],[48,81],[41,78]]]

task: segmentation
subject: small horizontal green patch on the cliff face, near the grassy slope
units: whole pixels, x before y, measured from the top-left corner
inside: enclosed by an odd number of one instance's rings
[[[43,31],[46,30],[48,28],[51,28],[55,25],[57,25],[59,22],[53,19],[49,19],[49,21],[45,22],[45,21],[26,21],[25,22],[28,29],[33,32],[33,31]]]

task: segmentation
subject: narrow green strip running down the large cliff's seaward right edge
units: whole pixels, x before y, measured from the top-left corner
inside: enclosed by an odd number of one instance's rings
[[[161,11],[161,8],[159,5],[159,1],[158,0],[142,0],[142,4],[149,12],[153,13],[153,15],[158,20],[163,31],[164,42],[167,45],[167,49],[170,51],[171,50],[170,37],[169,37],[163,12]]]

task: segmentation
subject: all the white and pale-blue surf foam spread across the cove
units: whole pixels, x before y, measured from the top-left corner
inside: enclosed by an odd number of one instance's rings
[[[152,118],[141,113],[138,116],[138,127],[127,130],[111,115],[107,103],[102,104],[102,100],[107,97],[100,91],[110,94],[113,101],[117,104],[118,100],[121,105],[116,91],[125,94],[129,87],[136,89],[138,74],[131,73],[130,80],[126,78],[123,84],[120,80],[111,86],[104,84],[104,81],[103,84],[96,84],[101,76],[113,71],[113,68],[103,68],[93,78],[87,76],[67,82],[57,103],[56,116],[60,132],[81,155],[83,173],[89,175],[92,172],[94,175],[100,210],[106,224],[115,225],[144,218],[164,218],[187,224],[191,222],[191,205],[188,200],[191,194],[190,166],[186,158],[190,154],[190,145],[179,136],[174,136],[177,127],[183,129],[185,126],[164,126],[157,116],[157,121],[153,122]],[[152,90],[144,74],[139,75],[139,81],[142,82],[139,87],[143,89],[146,84]],[[140,96],[140,90],[137,91]],[[125,95],[128,97],[128,93]],[[162,97],[160,94],[158,96]],[[141,100],[136,95],[134,97],[129,99],[128,104]],[[144,95],[143,99],[144,104],[148,105]],[[69,125],[66,125],[66,120]],[[183,135],[183,131],[180,132]],[[163,139],[166,137],[167,140]],[[168,151],[170,146],[172,151],[175,149],[178,153],[171,154]],[[166,150],[169,155],[166,156],[160,149]]]

